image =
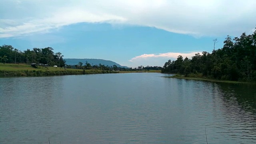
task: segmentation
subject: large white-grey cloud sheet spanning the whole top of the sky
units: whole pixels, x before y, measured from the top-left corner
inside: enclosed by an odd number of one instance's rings
[[[150,26],[192,36],[237,36],[256,24],[255,0],[2,0],[0,5],[0,38],[80,22]]]

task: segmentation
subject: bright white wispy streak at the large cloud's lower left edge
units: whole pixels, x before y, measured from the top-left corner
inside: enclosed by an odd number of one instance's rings
[[[48,30],[53,28],[80,22],[114,22],[115,20],[122,21],[124,18],[109,14],[92,14],[84,10],[68,10],[66,13],[55,13],[49,18],[30,20],[17,26],[0,28],[0,38],[20,36],[34,32],[48,32]],[[6,21],[6,24],[8,24],[13,20],[0,19],[1,21]]]

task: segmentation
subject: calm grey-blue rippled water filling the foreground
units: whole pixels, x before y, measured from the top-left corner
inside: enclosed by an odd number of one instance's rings
[[[256,143],[255,86],[161,76],[0,78],[0,143]]]

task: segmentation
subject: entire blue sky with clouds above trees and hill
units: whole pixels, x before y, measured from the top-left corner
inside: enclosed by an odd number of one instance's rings
[[[163,66],[256,27],[256,0],[0,0],[0,45]]]

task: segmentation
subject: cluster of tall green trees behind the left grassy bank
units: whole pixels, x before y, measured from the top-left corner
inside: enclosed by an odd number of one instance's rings
[[[4,63],[26,63],[26,64],[48,64],[49,66],[64,66],[65,60],[60,52],[54,53],[53,48],[33,48],[23,52],[13,48],[11,45],[0,46],[0,62]]]

